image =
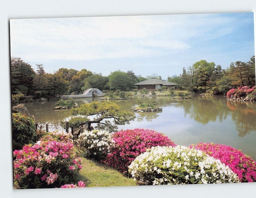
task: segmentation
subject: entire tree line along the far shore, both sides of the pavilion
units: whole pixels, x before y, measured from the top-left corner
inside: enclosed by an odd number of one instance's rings
[[[57,95],[81,94],[88,88],[100,90],[130,91],[137,88],[133,84],[148,78],[162,79],[161,76],[136,76],[132,70],[114,71],[109,76],[82,69],[60,68],[53,73],[46,73],[42,64],[33,70],[30,64],[20,57],[11,57],[11,92],[12,94],[32,95],[34,97],[55,97]],[[179,84],[179,89],[192,92],[226,93],[238,86],[255,85],[255,56],[250,61],[231,63],[226,70],[214,62],[201,60],[187,69],[183,67],[180,76],[168,77],[168,81]]]

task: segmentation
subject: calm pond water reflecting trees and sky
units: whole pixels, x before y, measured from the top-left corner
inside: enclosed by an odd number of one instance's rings
[[[145,98],[148,99],[148,98]],[[148,128],[167,135],[176,144],[220,143],[242,150],[256,160],[256,102],[226,100],[225,96],[194,95],[189,100],[154,98],[162,112],[135,113],[136,99],[114,101],[136,118],[119,129]],[[75,99],[78,105],[100,98]],[[56,123],[70,118],[70,109],[54,110],[56,101],[26,103],[36,122]]]

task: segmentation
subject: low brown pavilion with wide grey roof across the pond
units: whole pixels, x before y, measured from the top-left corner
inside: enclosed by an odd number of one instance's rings
[[[156,78],[149,78],[148,80],[144,80],[134,85],[137,85],[138,89],[143,89],[143,88],[159,89],[159,88],[162,88],[162,86],[166,86],[167,88],[171,88],[171,87],[176,88],[178,86],[178,84],[176,83],[171,83],[171,82],[159,80]]]

